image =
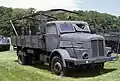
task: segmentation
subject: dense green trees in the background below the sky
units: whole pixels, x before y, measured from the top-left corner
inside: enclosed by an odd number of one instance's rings
[[[5,36],[11,35],[11,30],[12,30],[11,25],[9,22],[6,21],[9,21],[10,19],[20,18],[35,12],[36,9],[34,8],[20,9],[20,8],[8,8],[8,7],[0,6],[0,35],[5,35]],[[57,12],[53,13],[52,16],[64,20],[67,20],[68,16],[72,16],[71,20],[86,21],[89,23],[91,27],[94,27],[99,32],[111,32],[111,31],[117,32],[119,30],[120,16],[114,16],[107,13],[99,13],[97,11],[78,10],[75,12],[78,12],[79,16],[70,13],[57,13]]]

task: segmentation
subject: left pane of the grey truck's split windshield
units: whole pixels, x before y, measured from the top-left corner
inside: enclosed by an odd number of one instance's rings
[[[75,32],[74,26],[69,23],[62,23],[59,24],[60,32],[61,33],[67,33],[67,32]]]

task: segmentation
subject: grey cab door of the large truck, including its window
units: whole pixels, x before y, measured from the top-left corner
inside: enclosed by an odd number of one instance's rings
[[[46,51],[52,51],[58,47],[58,34],[56,24],[47,24],[45,39]]]

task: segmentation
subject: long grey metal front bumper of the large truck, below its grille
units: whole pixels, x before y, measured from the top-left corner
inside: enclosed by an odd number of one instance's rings
[[[81,64],[93,64],[93,63],[101,63],[107,61],[115,61],[118,60],[118,56],[114,57],[99,57],[99,58],[92,58],[92,59],[66,59],[67,62],[72,62],[74,65],[81,65]]]

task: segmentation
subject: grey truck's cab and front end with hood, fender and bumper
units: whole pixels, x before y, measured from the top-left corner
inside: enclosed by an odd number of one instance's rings
[[[117,60],[105,47],[103,36],[91,34],[84,21],[52,21],[47,23],[46,50],[57,51],[65,66],[73,68],[82,64],[96,64],[103,68],[104,62]],[[52,53],[53,53],[52,52]]]

